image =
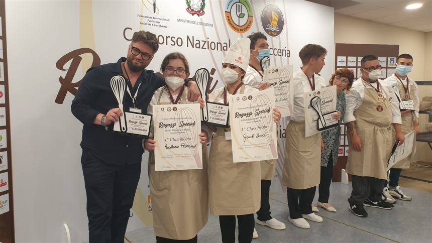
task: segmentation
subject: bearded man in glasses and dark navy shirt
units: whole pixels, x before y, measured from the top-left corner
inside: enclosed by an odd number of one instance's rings
[[[145,69],[158,48],[153,33],[134,33],[127,58],[90,68],[72,101],[72,113],[83,123],[81,165],[89,242],[124,241],[141,173],[142,138],[107,131],[123,115],[111,79],[120,75],[126,80],[124,110],[145,112],[155,90],[165,85],[162,77]],[[194,81],[190,84],[188,100],[197,100],[199,89]]]

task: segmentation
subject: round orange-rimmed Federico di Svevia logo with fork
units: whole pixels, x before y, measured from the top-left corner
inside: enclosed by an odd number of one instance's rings
[[[248,0],[230,0],[225,6],[225,19],[231,29],[245,33],[252,27],[254,14]]]

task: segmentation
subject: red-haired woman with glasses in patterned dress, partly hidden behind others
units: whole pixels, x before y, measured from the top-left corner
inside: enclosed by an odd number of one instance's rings
[[[354,82],[354,74],[348,68],[341,68],[332,74],[330,86],[336,85],[337,103],[336,109],[340,117],[345,115],[345,92],[350,90]],[[342,120],[339,120],[342,124]],[[337,126],[321,133],[324,142],[324,150],[321,152],[321,177],[319,181],[318,207],[330,212],[336,209],[329,204],[330,184],[332,183],[333,167],[338,163],[338,149],[341,137],[341,127]]]

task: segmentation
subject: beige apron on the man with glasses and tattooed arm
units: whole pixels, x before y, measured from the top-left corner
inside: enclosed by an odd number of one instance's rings
[[[346,170],[351,175],[385,180],[387,162],[394,145],[390,96],[386,93],[386,98],[379,100],[375,89],[365,86],[364,91],[363,103],[354,111],[356,131],[362,142],[362,150],[355,151],[350,144]],[[384,88],[382,92],[385,92]],[[382,108],[382,111],[378,111],[377,108]],[[348,136],[348,139],[351,141],[351,136]]]

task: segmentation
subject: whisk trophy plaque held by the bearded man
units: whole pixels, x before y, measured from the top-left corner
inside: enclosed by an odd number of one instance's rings
[[[147,138],[150,132],[152,115],[137,112],[139,109],[132,107],[129,107],[128,111],[126,111],[127,109],[125,109],[123,104],[126,80],[123,76],[117,75],[112,77],[110,83],[114,96],[116,96],[116,100],[119,103],[119,108],[123,112],[119,120],[114,123],[113,131]]]

